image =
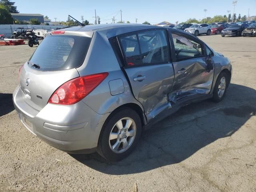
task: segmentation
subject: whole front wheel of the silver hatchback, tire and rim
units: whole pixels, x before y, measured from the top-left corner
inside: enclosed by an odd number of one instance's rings
[[[228,84],[228,75],[225,72],[221,72],[216,80],[213,90],[212,98],[215,102],[220,102],[224,98],[226,90],[228,88]]]

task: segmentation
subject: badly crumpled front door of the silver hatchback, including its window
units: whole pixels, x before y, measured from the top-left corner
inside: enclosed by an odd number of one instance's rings
[[[176,103],[184,97],[209,94],[214,78],[214,59],[208,70],[203,42],[184,33],[172,33],[172,49],[175,50],[173,66],[175,79],[169,98]]]

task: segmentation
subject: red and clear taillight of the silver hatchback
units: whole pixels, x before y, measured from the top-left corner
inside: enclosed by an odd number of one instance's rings
[[[48,103],[75,104],[92,92],[107,76],[108,72],[74,78],[60,86],[52,94]]]

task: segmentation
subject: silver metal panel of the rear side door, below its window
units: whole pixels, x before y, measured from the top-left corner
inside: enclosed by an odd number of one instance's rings
[[[134,97],[142,104],[146,117],[154,118],[166,108],[170,108],[168,94],[174,81],[174,69],[171,63],[126,68]],[[144,76],[143,80],[134,80]]]

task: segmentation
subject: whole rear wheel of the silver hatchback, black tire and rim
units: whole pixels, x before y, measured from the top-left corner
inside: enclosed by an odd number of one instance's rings
[[[142,131],[140,116],[130,108],[122,108],[104,123],[97,152],[108,161],[119,161],[128,156],[138,144]]]

